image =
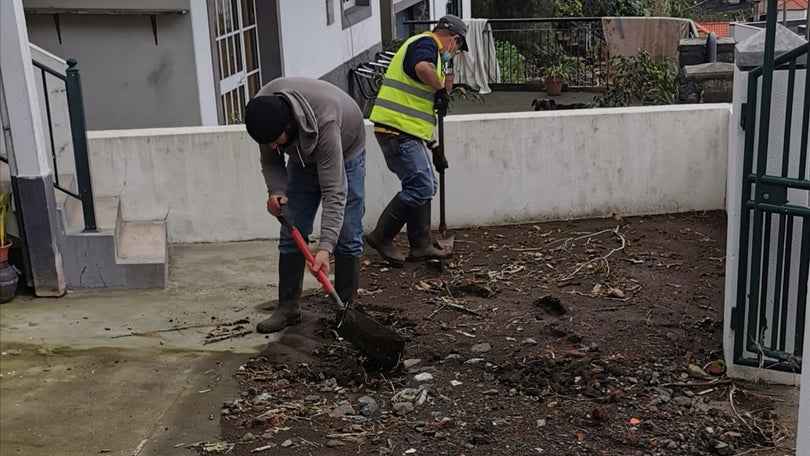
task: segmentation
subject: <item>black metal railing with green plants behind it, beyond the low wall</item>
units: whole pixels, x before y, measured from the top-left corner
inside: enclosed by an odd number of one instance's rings
[[[410,33],[428,30],[436,21],[405,21]],[[500,82],[494,89],[544,86],[547,70],[563,70],[570,87],[604,87],[607,68],[600,17],[490,19]],[[493,64],[486,62],[485,64]],[[489,74],[489,68],[485,68]]]

